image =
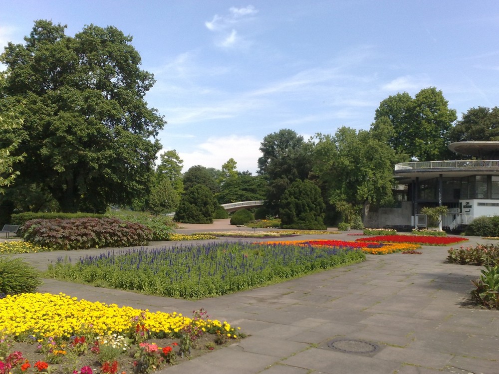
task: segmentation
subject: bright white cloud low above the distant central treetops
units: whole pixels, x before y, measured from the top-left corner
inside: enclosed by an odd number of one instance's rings
[[[258,158],[261,156],[260,143],[261,139],[252,136],[229,135],[208,138],[204,143],[193,147],[192,152],[179,152],[180,158],[184,160],[182,171],[186,172],[196,165],[221,169],[227,160],[233,158],[238,163],[239,171],[248,170],[254,174]]]

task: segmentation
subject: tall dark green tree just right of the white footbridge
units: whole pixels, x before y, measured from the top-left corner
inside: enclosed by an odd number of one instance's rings
[[[289,129],[268,134],[260,144],[259,175],[267,179],[267,207],[277,212],[284,191],[296,180],[305,180],[310,172],[311,145]]]

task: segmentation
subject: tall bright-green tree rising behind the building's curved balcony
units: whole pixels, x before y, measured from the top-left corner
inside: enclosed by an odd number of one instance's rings
[[[383,100],[376,109],[375,130],[382,119],[392,125],[388,142],[397,153],[417,161],[441,160],[448,155],[449,131],[457,116],[435,87],[422,89],[414,99],[404,92]]]

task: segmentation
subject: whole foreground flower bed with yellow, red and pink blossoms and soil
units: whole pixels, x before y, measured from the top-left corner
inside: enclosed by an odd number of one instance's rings
[[[0,299],[0,372],[142,374],[244,337],[209,319],[138,310],[59,294]]]

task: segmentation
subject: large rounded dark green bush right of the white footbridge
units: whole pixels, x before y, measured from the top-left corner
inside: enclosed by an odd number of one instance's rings
[[[283,228],[324,230],[324,201],[313,182],[295,181],[282,194],[279,218]]]

